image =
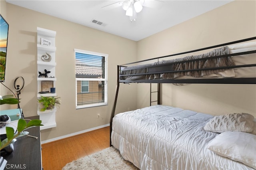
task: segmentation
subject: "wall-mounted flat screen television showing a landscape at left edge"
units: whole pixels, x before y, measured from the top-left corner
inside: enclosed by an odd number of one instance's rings
[[[0,81],[4,82],[6,71],[7,41],[9,24],[0,14]]]

